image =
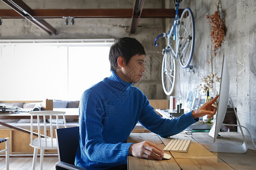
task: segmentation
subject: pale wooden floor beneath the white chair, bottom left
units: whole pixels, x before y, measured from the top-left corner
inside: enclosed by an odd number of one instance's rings
[[[58,162],[57,157],[45,157],[43,169],[55,170],[55,163]],[[40,158],[36,162],[36,169],[40,169]],[[29,158],[20,158],[20,157],[11,157],[9,162],[10,170],[28,170],[32,169],[32,157]],[[0,170],[6,169],[5,167],[5,158],[0,158]]]

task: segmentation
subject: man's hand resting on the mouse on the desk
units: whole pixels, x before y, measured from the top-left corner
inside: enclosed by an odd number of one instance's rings
[[[143,141],[132,144],[129,148],[129,154],[137,158],[162,160],[164,151],[152,142]]]

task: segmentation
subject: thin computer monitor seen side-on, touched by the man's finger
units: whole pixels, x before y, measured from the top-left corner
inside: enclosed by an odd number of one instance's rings
[[[216,141],[218,133],[220,132],[221,129],[221,125],[223,124],[229,100],[229,69],[228,63],[226,62],[225,54],[223,54],[219,95],[220,96],[218,97],[216,121],[214,122],[209,132],[209,135],[213,137],[213,143]]]

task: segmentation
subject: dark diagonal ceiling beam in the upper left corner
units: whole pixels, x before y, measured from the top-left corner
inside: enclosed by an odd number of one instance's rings
[[[31,23],[35,24],[39,28],[49,33],[49,35],[56,35],[56,29],[53,28],[50,24],[48,24],[44,19],[35,19],[34,10],[32,10],[29,6],[27,6],[26,3],[24,3],[22,0],[2,0],[2,1],[5,2],[6,5],[13,8],[13,10],[16,11],[23,18],[27,19]]]

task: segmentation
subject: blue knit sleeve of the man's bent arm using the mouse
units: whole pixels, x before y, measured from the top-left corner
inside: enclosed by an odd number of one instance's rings
[[[132,143],[105,143],[102,137],[104,102],[92,91],[85,91],[81,97],[79,109],[81,157],[101,163],[126,160]]]

